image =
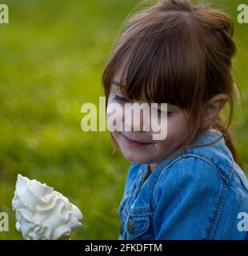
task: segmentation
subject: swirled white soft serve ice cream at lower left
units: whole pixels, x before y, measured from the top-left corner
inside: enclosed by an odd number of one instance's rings
[[[26,240],[57,240],[82,226],[83,215],[50,186],[18,174],[13,210],[16,228]]]

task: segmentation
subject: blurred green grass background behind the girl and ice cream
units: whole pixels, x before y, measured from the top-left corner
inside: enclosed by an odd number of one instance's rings
[[[248,170],[248,24],[246,1],[211,1],[235,22],[234,76],[242,94],[232,130]],[[117,239],[118,205],[130,162],[113,154],[108,132],[81,130],[81,106],[98,104],[101,75],[127,15],[138,0],[14,0],[0,25],[0,212],[22,239],[11,207],[17,174],[53,186],[84,215],[77,239]]]

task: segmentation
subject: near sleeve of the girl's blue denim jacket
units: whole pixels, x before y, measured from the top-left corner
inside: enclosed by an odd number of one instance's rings
[[[232,200],[234,194],[229,191],[229,196],[227,191],[227,184],[210,162],[179,158],[164,170],[155,192],[155,239],[241,237],[233,218],[238,214],[237,200]],[[222,212],[225,204],[229,208],[232,204],[234,214]],[[218,230],[226,230],[226,234],[218,234]]]

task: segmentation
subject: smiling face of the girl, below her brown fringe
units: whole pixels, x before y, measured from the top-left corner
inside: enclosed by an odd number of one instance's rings
[[[150,167],[154,169],[163,159],[171,154],[177,153],[182,143],[185,142],[188,132],[187,114],[185,111],[182,111],[180,107],[167,104],[167,135],[166,138],[162,140],[153,139],[153,134],[158,132],[154,132],[151,126],[150,131],[134,131],[134,126],[137,126],[137,122],[140,122],[140,127],[143,125],[142,111],[140,113],[141,118],[138,118],[139,120],[135,120],[135,118],[132,120],[126,117],[126,114],[124,114],[124,106],[128,100],[121,93],[118,86],[119,81],[120,77],[117,75],[110,88],[108,106],[110,103],[118,103],[119,106],[122,106],[123,114],[118,115],[119,118],[116,119],[115,125],[125,124],[125,126],[129,126],[131,131],[115,130],[112,134],[122,150],[122,154],[128,160],[131,162],[150,164]],[[142,94],[142,98],[136,102],[139,104],[146,102],[144,94]],[[111,114],[112,113],[107,111],[108,118]]]

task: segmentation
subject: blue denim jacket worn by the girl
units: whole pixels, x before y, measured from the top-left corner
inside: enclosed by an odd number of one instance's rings
[[[220,135],[206,130],[151,173],[146,164],[130,166],[118,240],[248,239],[238,230],[238,213],[248,214],[248,181],[224,139],[190,149]]]

